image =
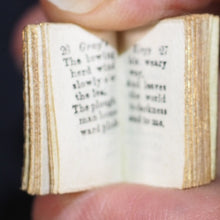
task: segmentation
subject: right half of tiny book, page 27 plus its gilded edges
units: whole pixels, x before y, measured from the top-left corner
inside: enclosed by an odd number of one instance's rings
[[[218,18],[167,19],[123,33],[121,42],[124,179],[177,188],[210,182],[215,172]]]

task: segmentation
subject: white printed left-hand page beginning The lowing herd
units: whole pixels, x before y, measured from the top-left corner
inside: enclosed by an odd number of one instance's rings
[[[59,146],[58,192],[118,182],[117,51],[75,25],[50,24],[48,37]]]

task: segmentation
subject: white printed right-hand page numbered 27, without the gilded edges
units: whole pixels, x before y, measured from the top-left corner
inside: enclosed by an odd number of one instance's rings
[[[125,44],[129,34],[124,36]],[[184,173],[184,21],[165,20],[120,58],[126,108],[124,177],[181,187]]]

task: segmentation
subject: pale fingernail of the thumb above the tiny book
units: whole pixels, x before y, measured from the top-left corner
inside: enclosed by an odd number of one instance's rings
[[[88,13],[97,8],[104,0],[48,0],[58,8],[76,14]]]

